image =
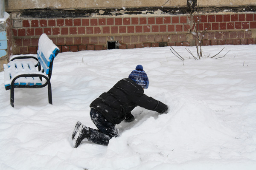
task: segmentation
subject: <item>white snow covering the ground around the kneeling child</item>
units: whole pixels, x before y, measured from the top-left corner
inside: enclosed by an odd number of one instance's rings
[[[224,48],[225,47],[225,48]],[[53,105],[47,88],[15,89],[15,108],[0,73],[1,170],[255,170],[256,45],[204,46],[188,59],[185,47],[64,52],[54,61]],[[195,47],[189,48],[195,54]],[[190,56],[192,58],[192,56]],[[89,105],[141,64],[145,94],[169,105],[159,115],[144,108],[116,127],[108,147],[73,148],[79,120],[95,128]]]

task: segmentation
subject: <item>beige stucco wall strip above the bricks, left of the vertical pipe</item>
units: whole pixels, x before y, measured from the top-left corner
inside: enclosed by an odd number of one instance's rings
[[[187,0],[6,0],[8,10],[186,6]]]

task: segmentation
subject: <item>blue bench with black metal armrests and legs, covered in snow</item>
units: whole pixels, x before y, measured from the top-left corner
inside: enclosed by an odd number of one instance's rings
[[[11,105],[14,107],[14,88],[43,88],[48,86],[48,100],[52,104],[51,76],[53,60],[59,48],[46,34],[38,42],[38,54],[15,55],[4,64],[4,85],[11,90]]]

